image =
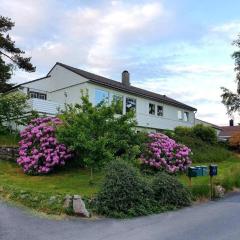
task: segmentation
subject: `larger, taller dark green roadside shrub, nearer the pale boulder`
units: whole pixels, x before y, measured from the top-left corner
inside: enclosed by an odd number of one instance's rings
[[[99,214],[111,217],[146,215],[157,211],[153,190],[136,168],[122,160],[111,162],[95,201]]]

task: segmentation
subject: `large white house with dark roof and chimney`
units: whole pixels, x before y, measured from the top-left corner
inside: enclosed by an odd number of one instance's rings
[[[122,101],[122,114],[134,109],[138,126],[148,131],[194,126],[197,111],[165,95],[131,86],[127,71],[118,82],[62,63],[56,63],[46,77],[17,85],[11,91],[16,90],[28,94],[32,108],[47,115],[57,114],[57,108],[65,103],[80,102],[81,90],[88,92],[93,104],[118,99]]]

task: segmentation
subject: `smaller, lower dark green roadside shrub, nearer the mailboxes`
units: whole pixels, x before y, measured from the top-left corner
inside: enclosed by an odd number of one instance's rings
[[[160,172],[152,182],[155,200],[161,205],[189,206],[191,194],[174,176]]]

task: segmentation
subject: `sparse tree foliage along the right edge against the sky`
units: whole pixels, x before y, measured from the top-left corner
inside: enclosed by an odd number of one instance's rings
[[[225,87],[221,88],[223,90],[222,103],[226,106],[229,115],[240,110],[240,34],[238,39],[233,41],[233,45],[237,47],[237,50],[232,54],[235,61],[237,91],[234,93]]]

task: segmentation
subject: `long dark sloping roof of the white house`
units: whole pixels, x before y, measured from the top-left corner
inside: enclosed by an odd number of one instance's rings
[[[124,84],[122,84],[121,82],[118,81],[114,81],[112,79],[109,78],[105,78],[78,68],[74,68],[71,66],[68,66],[66,64],[63,63],[59,63],[57,62],[56,65],[62,66],[82,77],[85,77],[89,80],[89,82],[97,84],[97,85],[101,85],[104,87],[108,87],[108,88],[112,88],[112,89],[116,89],[119,91],[123,91],[123,92],[127,92],[129,94],[133,94],[133,95],[137,95],[137,96],[141,96],[147,99],[151,99],[157,102],[163,102],[163,103],[167,103],[173,106],[177,106],[177,107],[181,107],[190,111],[197,111],[196,108],[193,108],[189,105],[186,105],[184,103],[181,103],[179,101],[176,101],[170,97],[167,97],[166,95],[161,95],[158,93],[154,93],[154,92],[150,92],[141,88],[137,88],[137,87],[133,87],[133,86],[126,86]],[[51,72],[51,71],[50,71]],[[49,72],[49,73],[50,73]]]

